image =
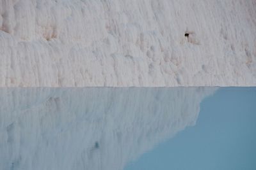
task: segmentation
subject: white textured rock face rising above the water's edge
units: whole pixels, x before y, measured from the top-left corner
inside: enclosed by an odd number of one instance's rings
[[[0,0],[0,86],[256,85],[255,9],[254,0]]]

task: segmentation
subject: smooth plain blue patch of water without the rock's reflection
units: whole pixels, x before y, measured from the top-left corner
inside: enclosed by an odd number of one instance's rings
[[[256,169],[256,88],[219,89],[196,125],[131,162],[132,169]]]

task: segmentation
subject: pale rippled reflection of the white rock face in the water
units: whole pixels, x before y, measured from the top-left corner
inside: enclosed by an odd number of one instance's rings
[[[215,88],[0,89],[0,169],[123,169]]]

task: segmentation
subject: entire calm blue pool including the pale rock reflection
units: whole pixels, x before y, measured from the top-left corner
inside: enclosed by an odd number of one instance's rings
[[[256,88],[1,88],[0,169],[256,169]]]

